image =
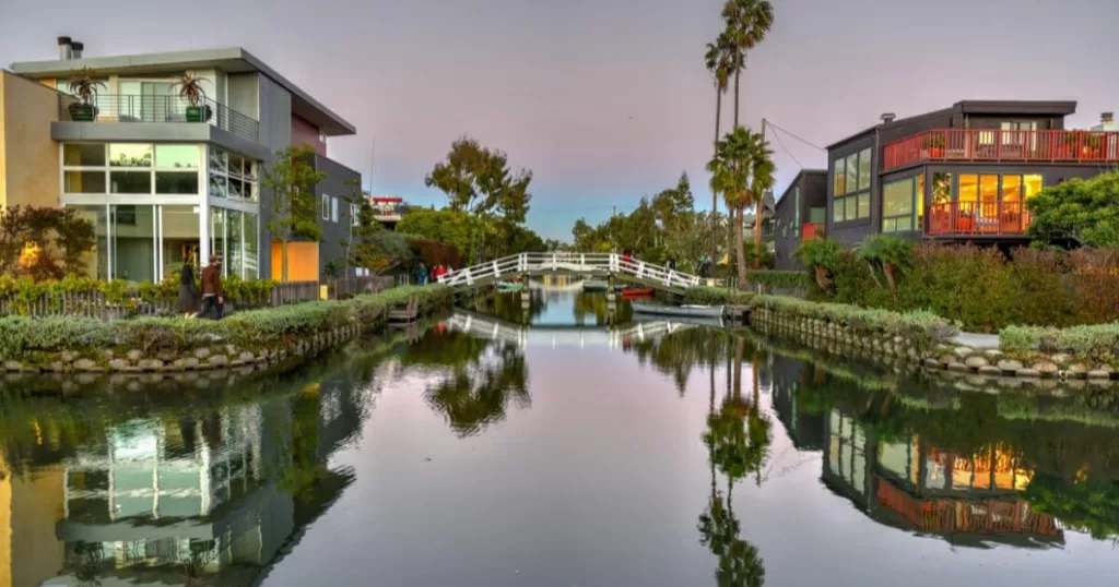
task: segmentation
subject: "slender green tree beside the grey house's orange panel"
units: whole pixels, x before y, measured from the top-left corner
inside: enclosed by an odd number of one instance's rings
[[[272,193],[272,220],[269,231],[280,240],[280,280],[288,281],[288,243],[322,240],[322,227],[317,220],[314,187],[327,178],[310,163],[314,150],[289,146],[278,151],[272,167],[264,173],[263,184]]]

